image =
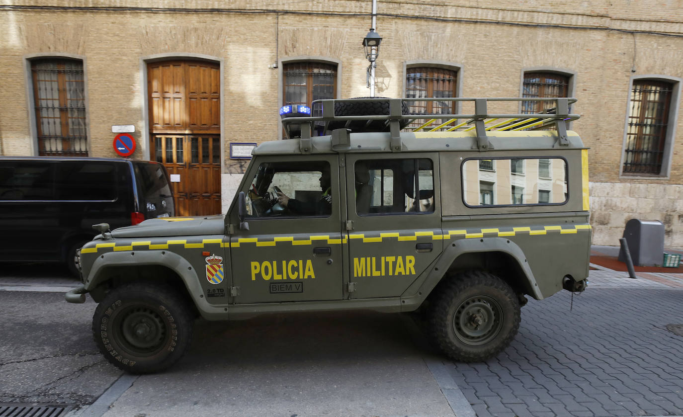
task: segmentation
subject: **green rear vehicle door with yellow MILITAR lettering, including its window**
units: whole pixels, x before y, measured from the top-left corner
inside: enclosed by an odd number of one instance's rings
[[[443,249],[438,154],[348,155],[347,167],[351,298],[401,296]]]

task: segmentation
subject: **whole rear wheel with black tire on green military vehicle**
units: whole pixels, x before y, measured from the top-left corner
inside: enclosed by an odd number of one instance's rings
[[[430,336],[450,358],[481,362],[510,345],[520,323],[519,300],[488,272],[466,272],[444,283],[432,304]]]

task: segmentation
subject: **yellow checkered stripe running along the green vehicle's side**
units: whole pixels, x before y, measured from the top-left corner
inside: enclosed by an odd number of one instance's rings
[[[522,235],[548,235],[552,233],[557,234],[575,234],[581,230],[590,230],[590,225],[573,225],[570,227],[563,226],[544,226],[544,227],[512,227],[507,229],[490,228],[490,229],[460,229],[449,230],[447,233],[440,233],[440,231],[415,231],[413,233],[401,234],[398,232],[380,233],[378,236],[366,237],[365,233],[351,233],[348,235],[348,240],[358,240],[363,243],[378,243],[388,242],[389,240],[397,240],[398,242],[410,242],[418,240],[418,238],[429,238],[431,240],[451,240],[454,238],[507,238],[511,236]],[[202,249],[210,247],[219,248],[240,248],[243,246],[267,247],[277,246],[278,244],[289,243],[292,246],[312,245],[313,242],[320,242],[322,244],[338,245],[347,244],[346,236],[341,238],[331,238],[330,235],[310,235],[305,239],[296,239],[294,236],[277,236],[273,239],[263,240],[258,238],[239,238],[236,242],[223,243],[221,239],[204,239],[201,242],[187,242],[185,239],[167,240],[166,243],[152,243],[150,240],[130,242],[130,244],[115,244],[114,242],[98,243],[92,248],[83,248],[81,253],[98,253],[100,250],[113,250],[114,252],[125,250],[156,250],[156,249],[171,249],[171,248],[185,248],[185,249]],[[216,245],[216,246],[213,246]]]

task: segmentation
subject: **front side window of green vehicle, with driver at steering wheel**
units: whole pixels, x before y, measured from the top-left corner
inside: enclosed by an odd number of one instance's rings
[[[246,191],[249,216],[262,218],[327,217],[335,198],[324,161],[260,164]]]

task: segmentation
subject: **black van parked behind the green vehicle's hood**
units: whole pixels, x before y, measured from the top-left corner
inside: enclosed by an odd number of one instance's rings
[[[0,261],[60,261],[98,232],[174,215],[162,164],[115,158],[0,157]]]

